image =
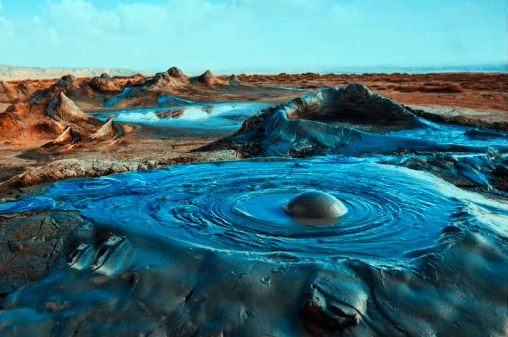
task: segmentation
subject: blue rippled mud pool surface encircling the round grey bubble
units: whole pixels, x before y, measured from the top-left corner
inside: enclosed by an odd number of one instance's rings
[[[346,213],[326,227],[295,221],[284,207],[308,190],[337,198]],[[506,205],[430,174],[343,157],[189,164],[76,179],[0,204],[0,213],[35,210],[80,210],[97,224],[213,249],[377,261],[431,246],[464,212],[478,224],[502,222],[508,214]]]

